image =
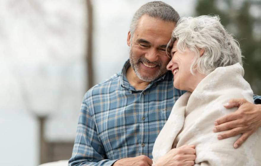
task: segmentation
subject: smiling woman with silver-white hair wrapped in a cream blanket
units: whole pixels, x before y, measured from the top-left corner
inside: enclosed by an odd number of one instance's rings
[[[261,165],[261,129],[238,149],[232,145],[240,135],[219,141],[218,133],[212,131],[215,119],[235,111],[222,106],[229,99],[253,103],[253,92],[243,78],[238,42],[217,16],[182,18],[171,40],[167,69],[174,75],[174,87],[188,92],[176,101],[155,141],[154,165],[173,148],[195,148],[195,165]],[[184,165],[194,165],[185,163],[193,161],[192,154],[180,156]]]

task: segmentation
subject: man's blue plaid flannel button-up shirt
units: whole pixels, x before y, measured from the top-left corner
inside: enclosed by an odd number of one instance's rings
[[[157,135],[185,91],[173,87],[169,71],[146,89],[135,90],[126,79],[129,66],[127,61],[121,73],[85,94],[69,165],[112,165],[139,155],[152,158]]]

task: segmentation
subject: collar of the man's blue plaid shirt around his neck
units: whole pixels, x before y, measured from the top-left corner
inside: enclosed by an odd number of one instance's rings
[[[127,79],[127,76],[126,76],[126,72],[127,72],[129,67],[131,67],[131,66],[130,66],[130,60],[128,59],[124,63],[122,71],[121,71],[121,74],[120,74],[120,84],[121,84],[121,87],[123,87],[125,89],[128,89],[128,90],[132,90],[132,91],[141,91],[141,90],[135,90],[134,87],[131,86],[130,83],[128,82],[128,79]],[[160,76],[158,79],[150,82],[146,89],[150,88],[153,84],[157,84],[156,82],[164,80],[165,76],[166,76],[166,74],[164,74],[163,76]]]

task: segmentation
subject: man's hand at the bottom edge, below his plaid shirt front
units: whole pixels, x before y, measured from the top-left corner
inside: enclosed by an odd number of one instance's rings
[[[113,166],[151,166],[151,165],[152,165],[152,159],[150,159],[145,155],[119,159],[113,164]]]

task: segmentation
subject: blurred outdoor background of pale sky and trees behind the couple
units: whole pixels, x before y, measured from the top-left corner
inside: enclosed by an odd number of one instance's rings
[[[261,95],[260,0],[163,0],[180,16],[219,15]],[[0,1],[0,165],[69,159],[82,98],[119,72],[134,12],[148,0]]]

